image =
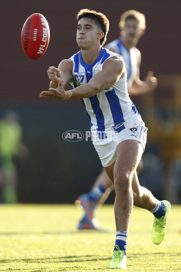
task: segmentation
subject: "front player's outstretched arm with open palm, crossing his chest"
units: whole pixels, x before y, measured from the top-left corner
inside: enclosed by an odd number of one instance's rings
[[[125,63],[121,56],[114,56],[106,60],[103,64],[103,70],[93,76],[87,84],[71,89],[71,97],[68,99],[81,99],[86,97],[95,96],[98,92],[108,89],[113,86],[121,77],[125,75]],[[50,88],[51,92],[61,94],[63,86],[62,80],[59,81],[59,85],[56,89]],[[70,92],[70,91],[67,91]],[[47,92],[48,97],[49,94]],[[64,96],[56,95],[52,98],[66,99]]]

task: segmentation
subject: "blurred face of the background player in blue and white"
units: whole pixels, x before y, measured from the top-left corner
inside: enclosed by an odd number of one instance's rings
[[[139,22],[135,19],[129,19],[125,22],[124,27],[125,39],[128,41],[133,41],[141,37],[141,28],[139,27]]]

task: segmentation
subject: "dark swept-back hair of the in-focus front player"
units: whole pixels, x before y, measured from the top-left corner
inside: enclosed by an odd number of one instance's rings
[[[97,24],[100,27],[100,29],[104,33],[104,37],[100,39],[100,45],[103,46],[106,42],[106,36],[109,30],[109,20],[107,19],[106,15],[94,10],[89,10],[87,8],[84,8],[78,12],[77,21],[79,21],[81,18],[85,18],[85,19],[90,18],[94,20],[95,24]]]

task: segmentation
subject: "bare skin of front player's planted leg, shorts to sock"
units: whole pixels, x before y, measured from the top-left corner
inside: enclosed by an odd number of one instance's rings
[[[142,153],[143,147],[138,141],[122,141],[116,147],[115,164],[105,167],[115,186],[116,230],[128,231],[133,207],[132,177]]]

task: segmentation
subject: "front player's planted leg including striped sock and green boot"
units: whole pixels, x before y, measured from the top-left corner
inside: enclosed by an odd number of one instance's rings
[[[116,242],[110,268],[126,268],[126,245],[133,209],[132,178],[143,153],[142,145],[135,140],[125,140],[116,147],[115,164],[105,167],[114,182],[116,199],[114,213]]]

